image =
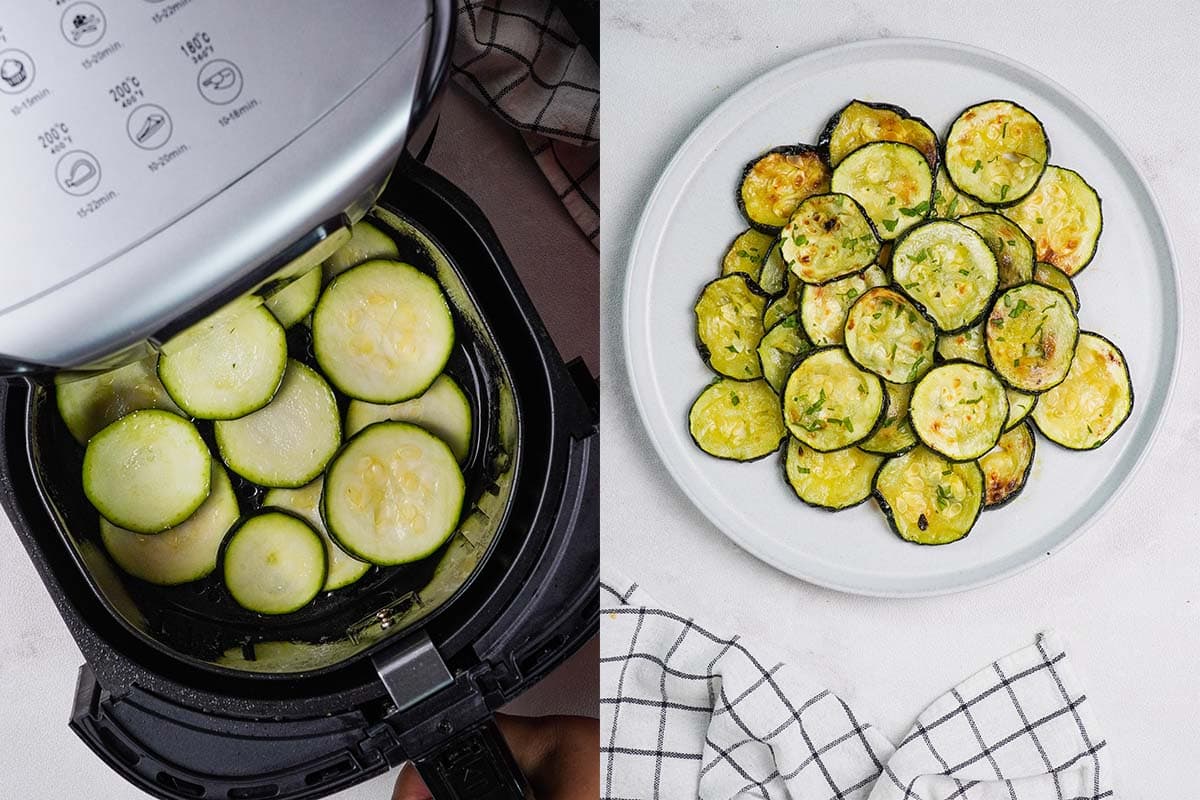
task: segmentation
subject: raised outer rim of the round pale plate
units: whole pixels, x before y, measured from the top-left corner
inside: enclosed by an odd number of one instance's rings
[[[767,84],[773,79],[775,79],[775,77],[780,72],[803,68],[803,66],[806,62],[815,62],[818,60],[829,59],[839,54],[858,55],[860,52],[870,52],[874,49],[886,50],[887,48],[895,48],[898,46],[910,47],[917,50],[952,52],[959,55],[966,55],[968,58],[974,58],[998,64],[1026,78],[1032,78],[1036,79],[1037,82],[1040,82],[1042,84],[1044,84],[1044,86],[1051,89],[1055,92],[1058,92],[1064,98],[1074,103],[1080,110],[1082,110],[1085,116],[1087,118],[1087,121],[1091,125],[1096,126],[1096,128],[1109,140],[1109,143],[1111,143],[1111,145],[1116,149],[1116,151],[1121,155],[1121,157],[1124,158],[1126,163],[1132,170],[1132,174],[1136,178],[1138,182],[1140,184],[1140,188],[1145,192],[1146,198],[1150,201],[1148,209],[1153,213],[1152,222],[1157,223],[1157,228],[1162,233],[1169,261],[1168,264],[1169,277],[1175,288],[1174,291],[1175,336],[1168,342],[1171,347],[1171,359],[1169,367],[1170,372],[1166,377],[1166,387],[1164,390],[1162,407],[1159,408],[1157,417],[1153,420],[1150,434],[1146,438],[1145,444],[1141,446],[1140,452],[1138,453],[1136,458],[1134,459],[1129,469],[1126,471],[1126,474],[1121,476],[1116,488],[1109,494],[1109,497],[1102,500],[1102,503],[1094,509],[1094,511],[1092,511],[1092,513],[1088,515],[1087,518],[1079,527],[1075,528],[1075,530],[1073,530],[1070,534],[1068,534],[1067,536],[1062,537],[1060,541],[1050,546],[1049,549],[1046,551],[1045,557],[1031,555],[1030,558],[1026,558],[1007,569],[997,570],[983,577],[977,577],[973,579],[961,581],[961,582],[950,582],[946,585],[936,588],[914,589],[914,590],[872,589],[869,587],[862,587],[858,584],[850,584],[830,579],[821,575],[815,575],[812,573],[812,571],[792,569],[790,566],[785,567],[773,561],[773,554],[769,553],[767,548],[760,547],[756,542],[751,541],[749,537],[742,536],[736,531],[727,530],[725,525],[718,523],[718,521],[713,518],[713,515],[709,513],[706,503],[702,500],[702,498],[697,497],[701,493],[698,493],[695,489],[695,487],[689,486],[688,482],[684,481],[682,476],[677,474],[676,465],[668,457],[668,452],[671,451],[671,449],[667,446],[664,438],[650,425],[648,399],[643,393],[642,386],[638,384],[636,374],[637,367],[635,363],[635,354],[632,348],[632,338],[630,336],[631,329],[635,326],[632,295],[635,293],[635,283],[636,283],[635,277],[637,276],[637,272],[634,267],[636,261],[638,260],[640,253],[642,252],[642,247],[647,240],[646,234],[647,234],[647,228],[649,227],[650,223],[649,219],[650,213],[652,211],[655,210],[656,205],[661,199],[661,196],[666,191],[666,184],[668,182],[668,179],[671,179],[677,170],[688,167],[685,156],[689,154],[691,149],[695,148],[696,143],[706,136],[708,130],[724,119],[725,113],[727,112],[728,108],[736,107],[738,102],[742,101],[745,96],[754,94],[760,85]],[[1116,500],[1124,493],[1129,483],[1136,476],[1138,471],[1145,464],[1146,458],[1150,456],[1150,452],[1154,449],[1154,444],[1158,440],[1159,434],[1162,433],[1163,422],[1171,410],[1171,404],[1175,398],[1176,384],[1178,381],[1178,373],[1180,373],[1178,367],[1182,354],[1182,339],[1183,339],[1183,297],[1178,290],[1181,285],[1178,258],[1176,255],[1175,242],[1171,239],[1170,228],[1168,227],[1166,218],[1163,213],[1162,204],[1159,203],[1158,197],[1154,194],[1154,191],[1151,187],[1150,181],[1146,180],[1146,175],[1138,166],[1136,160],[1133,158],[1129,150],[1126,148],[1124,143],[1121,142],[1121,139],[1114,133],[1114,131],[1109,127],[1109,125],[1104,121],[1104,119],[1099,114],[1097,114],[1087,103],[1085,103],[1072,91],[1062,86],[1062,84],[1060,84],[1058,82],[1045,76],[1040,71],[1034,70],[1033,67],[1030,67],[1007,55],[996,53],[995,50],[977,47],[974,44],[955,42],[950,40],[916,37],[916,36],[913,37],[889,36],[889,37],[845,42],[840,44],[834,44],[832,47],[823,47],[815,50],[809,50],[802,55],[798,55],[793,59],[788,59],[772,67],[767,72],[760,74],[754,80],[740,84],[738,89],[736,89],[732,94],[728,94],[708,114],[703,116],[703,119],[696,125],[692,132],[689,133],[688,137],[685,137],[683,142],[679,143],[679,145],[672,154],[671,158],[662,168],[661,174],[659,175],[658,180],[654,184],[654,188],[647,197],[646,204],[643,205],[642,211],[638,215],[638,221],[634,230],[634,237],[630,245],[629,255],[625,259],[625,276],[623,283],[624,285],[622,288],[622,299],[620,299],[622,301],[620,332],[623,339],[622,353],[625,360],[625,378],[629,381],[630,391],[634,396],[634,404],[637,408],[637,414],[642,428],[646,431],[647,437],[650,439],[650,443],[654,446],[654,451],[658,459],[661,462],[664,467],[666,467],[667,473],[671,475],[671,480],[676,483],[676,486],[679,487],[680,491],[683,491],[684,495],[692,504],[692,506],[695,506],[706,517],[706,519],[708,519],[709,524],[716,528],[716,530],[719,530],[722,536],[732,541],[734,545],[737,545],[746,553],[754,555],[756,559],[758,559],[767,566],[785,575],[790,575],[794,578],[804,581],[805,583],[810,583],[812,585],[822,587],[824,589],[830,589],[834,591],[850,595],[859,595],[868,597],[887,597],[887,599],[906,599],[906,597],[916,599],[916,597],[935,597],[935,596],[953,595],[964,591],[970,591],[973,589],[979,589],[995,583],[1000,583],[1002,581],[1012,578],[1015,575],[1025,572],[1028,569],[1032,569],[1034,565],[1042,563],[1044,559],[1051,555],[1058,554],[1066,547],[1078,541],[1084,535],[1084,533],[1090,530],[1102,516],[1108,513],[1108,511],[1112,507],[1114,503],[1116,503]]]

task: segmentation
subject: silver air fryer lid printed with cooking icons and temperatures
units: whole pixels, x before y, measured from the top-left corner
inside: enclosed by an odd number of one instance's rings
[[[440,78],[449,6],[7,4],[0,372],[119,360],[319,261]]]

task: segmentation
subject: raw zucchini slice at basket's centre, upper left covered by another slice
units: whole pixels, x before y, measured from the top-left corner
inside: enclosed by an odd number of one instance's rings
[[[214,426],[229,469],[260,486],[298,487],[320,475],[342,443],[329,384],[295,360],[266,407]]]

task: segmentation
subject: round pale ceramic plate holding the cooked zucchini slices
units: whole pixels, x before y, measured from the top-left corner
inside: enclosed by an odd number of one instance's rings
[[[839,513],[805,506],[784,482],[778,456],[737,464],[697,450],[688,434],[688,409],[713,374],[696,353],[692,303],[746,227],[734,203],[743,166],[775,145],[815,143],[851,98],[902,106],[941,136],[961,109],[996,97],[1037,114],[1050,138],[1051,163],[1079,172],[1103,198],[1099,248],[1076,287],[1081,327],[1104,333],[1128,359],[1136,399],[1124,427],[1091,452],[1070,452],[1039,435],[1024,493],[985,511],[966,539],[941,547],[901,541],[874,500]],[[1170,395],[1180,336],[1177,276],[1162,215],[1108,127],[1027,67],[928,40],[821,50],[764,74],[718,107],[676,154],[647,204],[624,303],[625,357],[642,420],[701,511],[785,572],[884,596],[990,583],[1082,533],[1151,445]]]

